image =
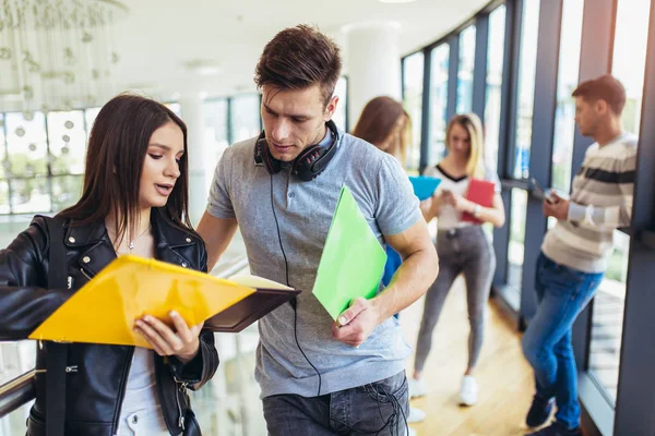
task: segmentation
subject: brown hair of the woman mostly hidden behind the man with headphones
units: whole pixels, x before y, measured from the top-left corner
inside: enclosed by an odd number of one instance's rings
[[[384,152],[404,161],[412,136],[409,114],[400,101],[391,97],[376,97],[361,110],[353,136],[381,148],[392,134],[398,134],[398,141]]]

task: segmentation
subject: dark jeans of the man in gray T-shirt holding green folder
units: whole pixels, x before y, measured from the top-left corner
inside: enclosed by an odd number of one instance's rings
[[[409,412],[407,377],[403,371],[320,397],[271,396],[264,398],[263,407],[271,436],[405,436]]]

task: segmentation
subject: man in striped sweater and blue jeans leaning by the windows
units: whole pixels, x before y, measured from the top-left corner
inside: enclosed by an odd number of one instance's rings
[[[571,328],[594,296],[607,268],[614,230],[630,225],[636,137],[623,132],[626,89],[607,74],[573,92],[575,123],[595,143],[573,180],[570,199],[555,193],[544,215],[557,218],[537,259],[537,313],[523,337],[523,352],[535,372],[536,395],[526,417],[529,427],[556,421],[533,435],[577,436],[580,404]]]

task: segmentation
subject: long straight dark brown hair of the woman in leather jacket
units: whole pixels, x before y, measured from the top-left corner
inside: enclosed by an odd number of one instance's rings
[[[74,226],[85,226],[104,220],[114,213],[121,220],[116,229],[119,235],[126,235],[128,229],[134,231],[141,172],[150,138],[168,122],[174,122],[182,131],[184,154],[179,160],[180,177],[166,206],[158,211],[175,227],[191,230],[187,125],[166,106],[130,94],[114,97],[98,112],[86,150],[82,197],[59,216],[72,218]]]

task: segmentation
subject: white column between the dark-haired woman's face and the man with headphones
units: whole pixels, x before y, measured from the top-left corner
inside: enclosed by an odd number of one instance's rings
[[[198,226],[207,204],[202,98],[198,94],[189,94],[183,96],[179,102],[182,121],[187,124],[187,143],[189,147],[189,217],[191,223]]]

